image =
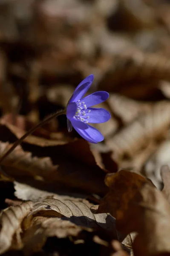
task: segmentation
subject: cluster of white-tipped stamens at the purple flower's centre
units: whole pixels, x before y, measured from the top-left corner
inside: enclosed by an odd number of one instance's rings
[[[74,118],[87,124],[88,123],[87,119],[89,119],[88,114],[91,112],[91,110],[90,109],[88,110],[85,102],[80,102],[80,100],[76,102],[76,105],[77,105],[77,111],[75,113]]]

